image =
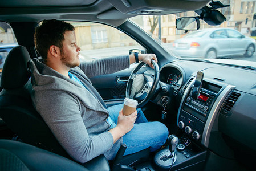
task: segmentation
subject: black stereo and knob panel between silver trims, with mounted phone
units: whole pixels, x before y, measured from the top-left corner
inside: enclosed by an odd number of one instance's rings
[[[222,86],[204,80],[202,72],[198,72],[194,80],[185,91],[177,124],[188,137],[200,142],[205,122]]]

